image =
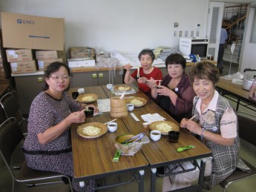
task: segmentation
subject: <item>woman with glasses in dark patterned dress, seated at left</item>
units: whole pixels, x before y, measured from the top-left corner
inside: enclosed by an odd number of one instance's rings
[[[73,123],[85,122],[85,104],[68,96],[65,90],[69,85],[70,68],[66,64],[53,62],[45,69],[45,87],[31,104],[24,140],[24,154],[30,168],[73,176],[69,129]],[[72,185],[79,191],[77,183]],[[90,185],[94,185],[93,180]]]

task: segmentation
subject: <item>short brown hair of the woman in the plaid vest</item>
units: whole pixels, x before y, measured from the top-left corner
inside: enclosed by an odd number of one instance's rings
[[[203,62],[197,62],[191,67],[189,71],[191,84],[194,82],[195,78],[209,79],[214,85],[216,85],[220,79],[220,72],[212,62],[205,60]]]

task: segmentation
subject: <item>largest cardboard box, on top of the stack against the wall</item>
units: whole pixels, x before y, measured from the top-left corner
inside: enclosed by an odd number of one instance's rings
[[[64,50],[64,19],[1,12],[4,47]]]

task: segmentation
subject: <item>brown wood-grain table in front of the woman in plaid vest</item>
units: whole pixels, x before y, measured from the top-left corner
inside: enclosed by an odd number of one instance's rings
[[[109,91],[105,86],[102,86],[107,93],[108,97],[114,96],[111,91]],[[158,105],[156,105],[153,101],[147,98],[144,93],[140,90],[137,91],[136,94],[131,94],[128,96],[140,96],[148,100],[147,104],[143,107],[135,107],[132,111],[139,119],[140,122],[136,122],[131,115],[128,115],[125,118],[122,118],[122,121],[125,123],[128,130],[133,134],[141,133],[144,129],[142,125],[143,120],[141,119],[142,114],[146,113],[159,113],[160,116],[166,118],[166,121],[178,123],[165,113]],[[184,147],[187,145],[194,145],[196,148],[192,150],[186,150],[182,153],[177,152],[177,148]],[[170,164],[174,164],[177,162],[186,162],[195,159],[200,159],[203,157],[211,156],[211,150],[203,145],[198,139],[191,135],[187,130],[180,130],[180,139],[177,143],[168,142],[168,137],[163,136],[160,141],[153,142],[151,141],[148,144],[143,145],[142,152],[145,155],[146,159],[148,159],[150,168],[151,168],[151,191],[155,191],[155,183],[156,183],[156,172],[157,168],[162,166],[167,166]],[[203,164],[202,164],[203,163]],[[200,169],[200,179],[198,185],[194,185],[188,188],[180,189],[180,191],[191,191],[198,190],[201,191],[203,187],[203,175],[205,170],[205,162],[201,162],[203,165]]]

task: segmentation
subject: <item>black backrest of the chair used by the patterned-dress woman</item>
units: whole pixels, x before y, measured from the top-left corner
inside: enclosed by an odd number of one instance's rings
[[[14,117],[2,122],[0,129],[0,153],[4,162],[10,167],[12,154],[16,146],[24,139],[24,135]]]

